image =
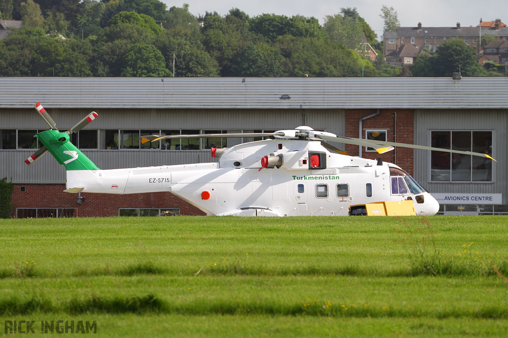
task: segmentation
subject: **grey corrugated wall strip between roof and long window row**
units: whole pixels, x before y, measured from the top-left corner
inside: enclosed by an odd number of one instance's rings
[[[60,130],[91,109],[47,108]],[[86,129],[293,129],[344,132],[344,109],[96,109],[99,117]],[[302,116],[305,116],[303,123]],[[48,129],[35,109],[0,108],[0,129]]]

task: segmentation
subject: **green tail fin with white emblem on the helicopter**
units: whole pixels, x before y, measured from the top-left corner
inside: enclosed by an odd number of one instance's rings
[[[67,170],[99,170],[81,151],[69,141],[69,134],[58,130],[46,130],[35,135],[48,148],[53,157]]]

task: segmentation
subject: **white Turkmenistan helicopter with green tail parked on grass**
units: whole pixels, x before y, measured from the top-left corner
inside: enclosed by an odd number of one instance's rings
[[[185,137],[273,139],[212,148],[211,156],[218,159],[214,163],[101,170],[69,141],[70,134],[97,117],[96,112],[60,132],[40,103],[36,108],[51,129],[35,136],[44,146],[25,162],[32,164],[49,151],[67,169],[66,192],[170,192],[208,215],[363,215],[369,205],[385,203],[409,204],[417,215],[437,213],[437,201],[400,167],[347,156],[325,141],[368,146],[379,154],[403,146],[492,159],[481,153],[340,137],[301,126],[274,133],[143,136],[143,143]],[[371,214],[387,214],[381,209],[374,207]]]

